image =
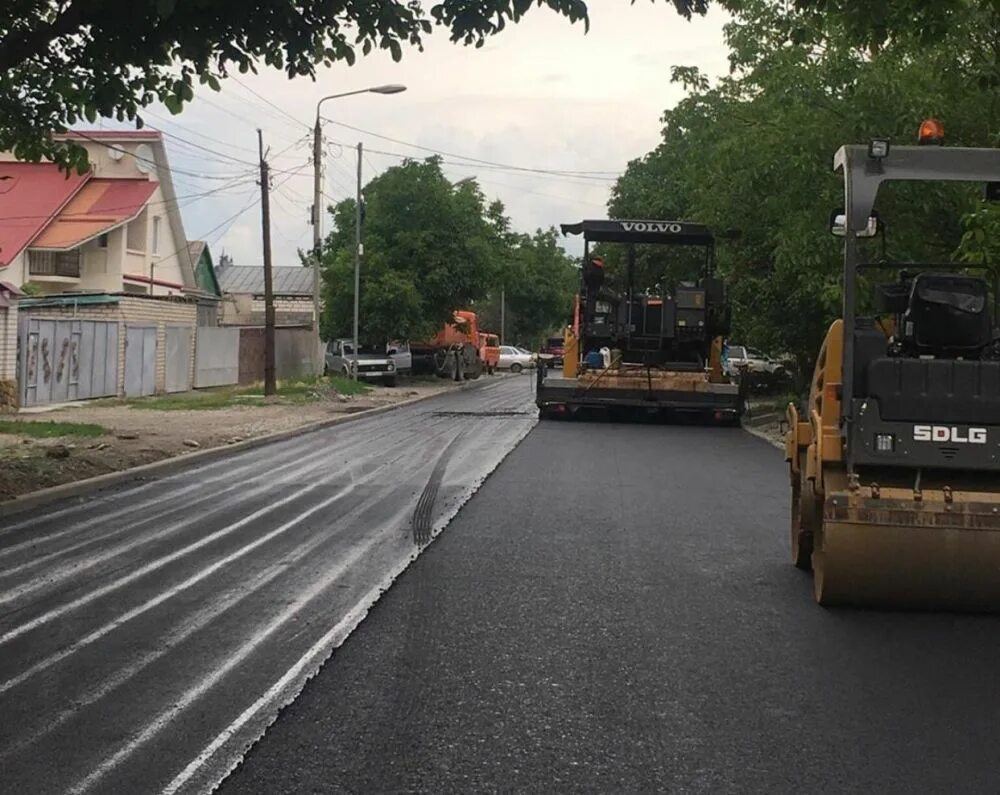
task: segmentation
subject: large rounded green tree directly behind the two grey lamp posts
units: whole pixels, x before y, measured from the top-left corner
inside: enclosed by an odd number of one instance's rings
[[[452,312],[486,298],[504,249],[496,213],[474,182],[452,185],[440,158],[406,161],[364,191],[361,336],[370,344],[424,339]],[[323,259],[328,339],[349,336],[354,315],[355,202],[333,208]]]

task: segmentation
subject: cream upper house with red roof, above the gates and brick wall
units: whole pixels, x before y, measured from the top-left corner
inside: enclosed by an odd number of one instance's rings
[[[163,138],[71,132],[86,174],[0,154],[0,279],[44,295],[196,290]]]

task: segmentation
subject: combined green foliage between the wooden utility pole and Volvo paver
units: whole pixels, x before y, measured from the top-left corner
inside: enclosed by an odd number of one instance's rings
[[[359,336],[381,346],[427,339],[456,309],[499,332],[506,290],[510,339],[535,340],[566,322],[578,272],[554,229],[512,232],[503,204],[478,184],[453,185],[440,159],[407,161],[365,188]],[[325,339],[349,337],[354,323],[354,200],[332,208],[324,247]]]

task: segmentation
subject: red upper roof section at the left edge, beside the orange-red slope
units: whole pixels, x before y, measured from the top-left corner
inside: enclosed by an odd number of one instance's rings
[[[0,162],[0,268],[45,229],[89,178],[52,163]]]

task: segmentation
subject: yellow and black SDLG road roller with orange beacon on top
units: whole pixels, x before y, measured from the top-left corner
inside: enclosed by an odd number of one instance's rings
[[[867,238],[884,233],[875,211],[883,183],[979,182],[992,200],[1000,151],[944,147],[934,120],[921,125],[919,141],[876,139],[834,157],[844,182],[844,207],[831,216],[844,241],[843,312],[819,351],[806,404],[788,407],[792,560],[812,569],[822,605],[993,611],[996,285],[974,268],[870,261],[865,251]]]

